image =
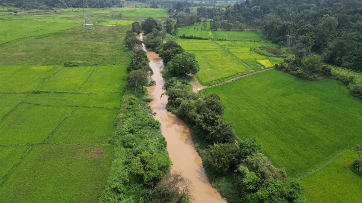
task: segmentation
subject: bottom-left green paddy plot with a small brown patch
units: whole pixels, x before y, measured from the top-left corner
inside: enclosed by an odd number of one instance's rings
[[[39,145],[0,185],[0,202],[98,202],[112,146]]]

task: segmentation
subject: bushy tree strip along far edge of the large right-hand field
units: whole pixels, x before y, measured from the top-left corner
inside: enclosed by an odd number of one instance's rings
[[[322,65],[319,55],[289,56],[286,57],[281,64],[275,64],[275,68],[308,80],[339,80],[347,85],[347,89],[351,95],[362,99],[362,84],[358,83],[354,76],[332,74],[331,67]]]

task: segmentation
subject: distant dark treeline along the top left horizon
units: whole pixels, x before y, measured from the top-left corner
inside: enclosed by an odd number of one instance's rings
[[[90,8],[105,8],[115,5],[122,5],[121,0],[87,0]],[[44,9],[51,10],[53,8],[83,8],[83,0],[2,0],[2,6],[13,6],[25,10]]]

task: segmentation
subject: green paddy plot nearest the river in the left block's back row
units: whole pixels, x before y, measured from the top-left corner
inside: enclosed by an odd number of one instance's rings
[[[79,90],[82,92],[123,92],[127,83],[127,65],[99,66]]]

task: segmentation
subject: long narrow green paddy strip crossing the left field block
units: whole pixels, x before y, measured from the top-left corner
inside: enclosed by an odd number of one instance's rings
[[[92,106],[119,108],[121,93],[41,93],[31,94],[24,102],[51,106]]]

